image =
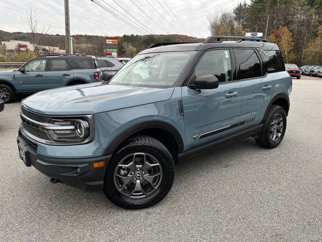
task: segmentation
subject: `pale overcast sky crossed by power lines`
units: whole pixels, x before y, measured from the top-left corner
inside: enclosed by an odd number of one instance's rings
[[[131,18],[115,2],[137,18],[155,34],[186,34],[195,37],[207,37],[207,15],[215,10],[232,10],[240,0],[165,0],[173,13],[177,16],[184,27],[181,29],[174,22],[172,15],[164,0],[132,0],[152,20],[142,13],[131,0],[95,0],[116,13],[111,5],[122,14]],[[104,1],[107,3],[104,3]],[[160,4],[172,16],[172,19]],[[148,3],[150,3],[165,19],[163,19]],[[0,0],[0,30],[14,32],[27,32],[26,23],[22,20],[25,11],[29,7],[36,8],[41,22],[51,26],[50,34],[64,34],[64,0]],[[141,34],[132,27],[118,20],[106,10],[97,6],[91,0],[69,0],[70,31],[71,34],[94,34],[103,36],[115,36],[123,34]],[[124,20],[128,21],[125,17]],[[178,23],[180,25],[180,23]],[[181,25],[180,25],[181,26]],[[163,30],[163,29],[164,30]]]

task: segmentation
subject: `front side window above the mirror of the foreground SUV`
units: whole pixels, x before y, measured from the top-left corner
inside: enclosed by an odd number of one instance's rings
[[[232,81],[230,54],[228,49],[217,49],[206,52],[196,69],[196,77],[215,75],[219,82]]]

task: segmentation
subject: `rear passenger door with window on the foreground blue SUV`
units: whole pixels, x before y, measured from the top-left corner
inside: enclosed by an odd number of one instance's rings
[[[266,107],[276,92],[274,76],[267,75],[262,58],[254,48],[234,48],[241,85],[240,130],[262,122]]]

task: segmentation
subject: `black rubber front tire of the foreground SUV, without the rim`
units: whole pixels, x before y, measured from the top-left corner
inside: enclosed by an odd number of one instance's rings
[[[123,158],[133,154],[144,152],[155,157],[162,167],[162,179],[159,181],[159,186],[153,190],[151,195],[144,198],[130,198],[123,195],[116,188],[114,175],[118,164]],[[142,167],[143,168],[143,167]],[[105,180],[103,192],[105,196],[115,205],[126,209],[141,209],[150,207],[167,196],[171,190],[175,177],[175,166],[171,154],[167,148],[158,140],[149,136],[135,136],[124,142],[122,147],[110,160]],[[130,181],[131,183],[132,181]]]

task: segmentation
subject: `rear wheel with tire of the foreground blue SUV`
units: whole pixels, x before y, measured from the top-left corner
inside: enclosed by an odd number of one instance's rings
[[[256,143],[264,148],[275,148],[283,140],[286,130],[286,113],[278,105],[272,105],[263,122],[263,129],[256,138]]]

